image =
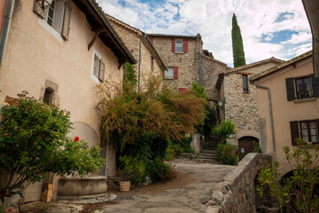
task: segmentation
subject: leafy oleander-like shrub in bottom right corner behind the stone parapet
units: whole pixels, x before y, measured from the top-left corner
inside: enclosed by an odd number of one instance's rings
[[[274,170],[266,167],[257,177],[256,190],[262,193],[270,190],[270,195],[276,199],[280,207],[286,207],[289,212],[315,213],[319,209],[318,192],[315,187],[319,185],[318,156],[319,146],[313,146],[315,154],[310,154],[310,146],[303,139],[297,138],[298,149],[284,147],[284,154],[292,169],[292,177],[285,177],[279,182],[281,173],[279,163],[275,163]],[[311,148],[312,149],[312,148]]]

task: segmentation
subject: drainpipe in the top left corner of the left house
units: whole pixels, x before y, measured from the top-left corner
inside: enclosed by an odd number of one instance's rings
[[[8,0],[6,8],[5,8],[4,26],[3,26],[3,31],[1,35],[1,41],[0,41],[0,70],[1,70],[3,59],[4,59],[4,47],[5,47],[5,43],[7,41],[7,36],[9,33],[14,1],[15,0]]]

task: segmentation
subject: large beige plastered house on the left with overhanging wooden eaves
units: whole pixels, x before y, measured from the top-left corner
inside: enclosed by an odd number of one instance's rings
[[[121,83],[123,63],[136,63],[104,12],[95,1],[87,0],[53,0],[50,5],[42,0],[8,0],[0,6],[7,7],[0,8],[1,17],[6,12],[0,43],[0,105],[28,91],[36,99],[70,111],[74,127],[70,137],[99,146],[97,84],[106,78]],[[106,168],[100,175],[116,174],[114,156],[113,146],[105,145]],[[0,176],[1,190],[5,174]],[[52,183],[55,199],[56,183]],[[40,200],[42,190],[42,182],[29,185],[26,201]]]

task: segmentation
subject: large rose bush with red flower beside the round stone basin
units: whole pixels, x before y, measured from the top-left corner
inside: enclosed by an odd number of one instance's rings
[[[67,138],[70,113],[18,94],[4,106],[0,122],[0,167],[9,172],[6,193],[40,181],[48,172],[59,176],[97,172],[104,165],[98,147],[86,148],[78,137]]]

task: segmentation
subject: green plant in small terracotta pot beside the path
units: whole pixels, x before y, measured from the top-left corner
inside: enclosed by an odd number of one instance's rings
[[[130,188],[130,177],[133,176],[136,168],[133,162],[132,157],[124,155],[120,157],[120,167],[119,174],[121,177],[120,181],[120,191],[127,192]]]

